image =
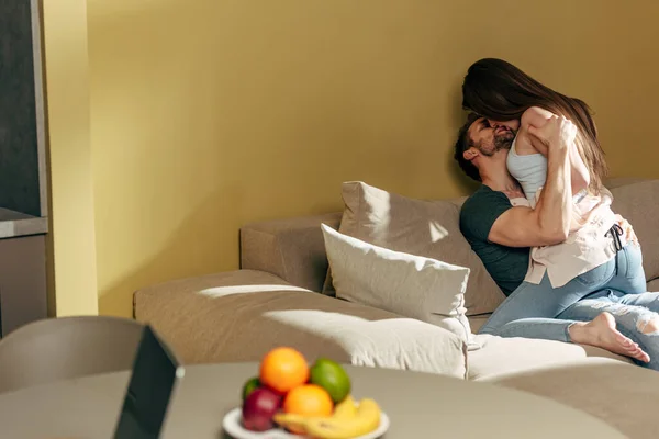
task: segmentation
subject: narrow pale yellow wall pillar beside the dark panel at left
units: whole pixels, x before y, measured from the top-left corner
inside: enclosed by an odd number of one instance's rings
[[[48,312],[97,314],[86,0],[44,0],[43,40],[51,175]]]

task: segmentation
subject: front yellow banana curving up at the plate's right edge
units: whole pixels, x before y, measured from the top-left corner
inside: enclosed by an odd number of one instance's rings
[[[309,418],[304,429],[306,434],[321,439],[348,439],[371,432],[380,425],[380,407],[373,399],[365,398],[359,403],[354,418],[336,419]]]

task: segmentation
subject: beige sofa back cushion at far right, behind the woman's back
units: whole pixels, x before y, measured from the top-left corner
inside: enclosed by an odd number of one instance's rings
[[[659,278],[659,180],[647,180],[611,189],[612,209],[634,227],[643,248],[646,280]]]

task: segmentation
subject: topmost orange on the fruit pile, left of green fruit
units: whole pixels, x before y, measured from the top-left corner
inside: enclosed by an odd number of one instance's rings
[[[261,360],[259,380],[261,384],[279,393],[287,393],[306,383],[309,365],[304,356],[295,349],[276,348],[266,353]]]

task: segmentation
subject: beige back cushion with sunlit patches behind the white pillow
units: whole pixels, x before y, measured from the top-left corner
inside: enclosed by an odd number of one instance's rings
[[[391,250],[468,267],[468,315],[491,313],[505,299],[460,233],[456,203],[414,200],[358,181],[343,184],[343,199],[340,233]],[[328,289],[330,283],[324,291]]]

